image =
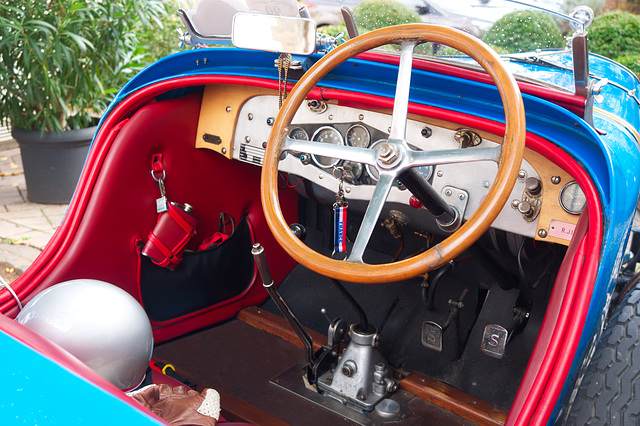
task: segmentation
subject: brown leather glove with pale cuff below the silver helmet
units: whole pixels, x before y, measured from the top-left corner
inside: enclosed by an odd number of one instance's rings
[[[149,385],[129,394],[155,415],[174,426],[215,426],[220,417],[220,395],[184,386]]]

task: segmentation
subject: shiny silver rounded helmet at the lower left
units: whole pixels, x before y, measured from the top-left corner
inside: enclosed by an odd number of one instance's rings
[[[112,284],[79,279],[54,285],[27,303],[16,321],[120,389],[144,379],[153,349],[149,318],[136,299]]]

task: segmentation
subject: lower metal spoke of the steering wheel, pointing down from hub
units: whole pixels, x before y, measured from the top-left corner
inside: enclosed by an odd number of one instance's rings
[[[384,208],[384,203],[387,200],[387,196],[389,195],[396,179],[397,177],[393,173],[383,173],[380,175],[378,183],[376,184],[376,189],[373,191],[371,201],[369,202],[369,206],[367,206],[367,211],[364,214],[364,219],[362,220],[362,224],[358,230],[356,241],[353,243],[351,253],[349,253],[349,256],[346,259],[347,261],[364,263],[362,256],[369,244],[373,230],[378,224],[378,220],[382,214],[382,209]]]

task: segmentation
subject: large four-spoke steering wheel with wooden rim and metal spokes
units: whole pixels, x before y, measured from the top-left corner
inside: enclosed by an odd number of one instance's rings
[[[475,59],[493,79],[505,111],[502,145],[424,152],[406,142],[409,86],[413,50],[417,44],[434,42],[451,46]],[[332,69],[349,58],[385,44],[402,46],[391,132],[385,149],[338,146],[288,137],[288,127],[311,89]],[[513,75],[497,54],[482,41],[462,31],[438,25],[407,24],[375,30],[337,47],[311,67],[295,85],[273,125],[262,166],[262,208],[278,243],[296,261],[320,274],[350,282],[382,283],[408,279],[433,270],[466,250],[489,228],[507,202],[522,163],[525,145],[525,114],[522,95]],[[389,148],[395,155],[389,157]],[[351,253],[335,260],[309,248],[289,229],[278,201],[278,161],[285,151],[306,152],[370,164],[380,178],[374,190]],[[384,151],[384,152],[382,152]],[[366,264],[362,255],[382,213],[384,202],[398,176],[411,167],[492,160],[498,164],[494,184],[477,211],[456,232],[416,256],[393,263]]]

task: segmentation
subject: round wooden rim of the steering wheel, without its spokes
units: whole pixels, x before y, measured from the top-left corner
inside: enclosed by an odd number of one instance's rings
[[[487,71],[498,88],[505,111],[505,134],[497,160],[498,172],[494,184],[466,223],[439,244],[411,258],[393,263],[365,264],[335,260],[317,253],[289,229],[278,199],[278,161],[288,127],[296,111],[313,87],[329,71],[347,59],[385,44],[417,45],[423,42],[444,44],[467,54]],[[395,106],[393,114],[395,117]],[[297,262],[315,272],[343,281],[360,283],[409,279],[454,259],[489,228],[507,202],[517,179],[524,153],[525,136],[524,104],[515,78],[502,66],[500,58],[485,43],[462,31],[439,25],[406,24],[374,30],[351,39],[328,53],[302,76],[289,93],[276,117],[265,150],[260,187],[263,212],[271,232],[284,250]]]

